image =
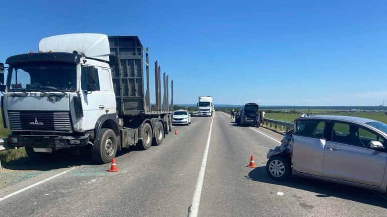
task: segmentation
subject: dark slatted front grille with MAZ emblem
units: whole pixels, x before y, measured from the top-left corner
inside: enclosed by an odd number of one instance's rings
[[[9,111],[11,130],[71,132],[69,112]]]

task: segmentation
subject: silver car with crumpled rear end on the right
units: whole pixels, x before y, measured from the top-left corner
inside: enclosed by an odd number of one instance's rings
[[[294,174],[386,192],[387,125],[346,116],[300,117],[267,158],[267,172],[276,180]]]

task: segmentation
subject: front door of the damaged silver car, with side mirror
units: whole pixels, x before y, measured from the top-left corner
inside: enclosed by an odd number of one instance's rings
[[[322,175],[367,185],[380,186],[387,159],[385,149],[369,148],[372,140],[384,138],[362,126],[346,123],[332,123],[332,136],[326,142]]]

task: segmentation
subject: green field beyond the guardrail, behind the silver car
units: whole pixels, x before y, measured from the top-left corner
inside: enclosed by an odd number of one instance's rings
[[[340,115],[340,116],[352,116],[352,117],[359,117],[359,118],[367,118],[367,119],[372,119],[376,121],[380,121],[383,123],[387,123],[387,115],[381,112],[358,112],[358,113],[351,113],[351,112],[341,112],[341,113],[331,113],[331,112],[326,112],[326,113],[313,113],[311,115]],[[288,114],[288,113],[266,113],[265,118],[268,119],[274,119],[278,121],[285,121],[285,122],[292,122],[298,117],[301,116],[301,113],[299,114]]]

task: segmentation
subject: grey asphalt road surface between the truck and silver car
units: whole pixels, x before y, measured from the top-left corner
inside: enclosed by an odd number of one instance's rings
[[[0,216],[187,216],[211,120],[193,117],[191,126],[174,127],[178,135],[168,135],[161,146],[121,152],[117,173],[106,172],[108,164],[93,165],[81,157],[20,165],[42,172],[0,190]],[[254,129],[215,113],[198,216],[387,215],[387,200],[372,191],[298,177],[270,179],[266,153],[282,136]],[[251,154],[255,169],[245,167]]]

